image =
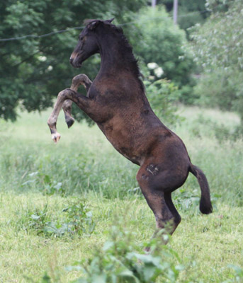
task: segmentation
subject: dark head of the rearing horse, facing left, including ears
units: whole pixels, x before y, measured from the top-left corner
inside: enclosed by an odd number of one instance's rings
[[[96,36],[96,29],[98,25],[102,23],[111,23],[113,19],[108,21],[101,20],[86,20],[86,27],[81,31],[79,35],[79,42],[77,46],[74,48],[74,51],[70,57],[70,63],[73,67],[79,68],[81,67],[81,63],[84,60],[91,57],[91,55],[98,53],[98,40]]]

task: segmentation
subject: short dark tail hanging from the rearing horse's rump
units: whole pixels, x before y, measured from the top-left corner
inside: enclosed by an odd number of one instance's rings
[[[200,170],[197,166],[191,164],[189,171],[193,173],[194,176],[198,179],[200,185],[201,196],[200,196],[200,212],[203,214],[210,214],[213,212],[213,207],[210,200],[210,190],[208,185],[208,180],[204,175],[203,171]]]

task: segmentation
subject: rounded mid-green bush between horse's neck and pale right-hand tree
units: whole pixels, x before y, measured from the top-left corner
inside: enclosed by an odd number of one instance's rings
[[[191,81],[193,60],[182,47],[186,35],[174,25],[165,9],[161,6],[142,9],[136,27],[137,36],[130,39],[135,53],[146,64],[156,62],[161,66],[164,78],[179,86],[188,84]]]

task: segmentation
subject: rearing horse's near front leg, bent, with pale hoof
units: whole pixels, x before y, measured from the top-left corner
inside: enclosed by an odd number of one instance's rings
[[[81,108],[81,110],[84,110],[84,112],[89,112],[92,104],[92,100],[90,98],[83,96],[70,88],[67,88],[64,91],[58,93],[57,102],[55,103],[55,106],[52,110],[52,114],[47,120],[47,124],[50,127],[50,132],[52,134],[52,139],[55,143],[57,143],[57,141],[59,141],[61,137],[61,135],[57,132],[56,125],[57,117],[60,113],[60,110],[62,109],[62,105],[65,100],[72,100],[79,106],[79,108]]]

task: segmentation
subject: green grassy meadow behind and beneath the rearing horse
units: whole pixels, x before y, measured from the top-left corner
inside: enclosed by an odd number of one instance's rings
[[[49,112],[0,121],[0,282],[72,282],[84,270],[68,267],[94,258],[111,242],[112,227],[132,233],[137,253],[154,231],[137,189],[138,167],[96,126],[67,129],[63,115],[62,139],[54,144]],[[238,117],[199,108],[179,112],[184,120],[173,129],[207,175],[214,212],[200,214],[199,185],[189,175],[173,195],[182,221],[167,245],[178,255],[168,262],[183,268],[176,279],[157,282],[243,282],[243,141],[232,131]]]

